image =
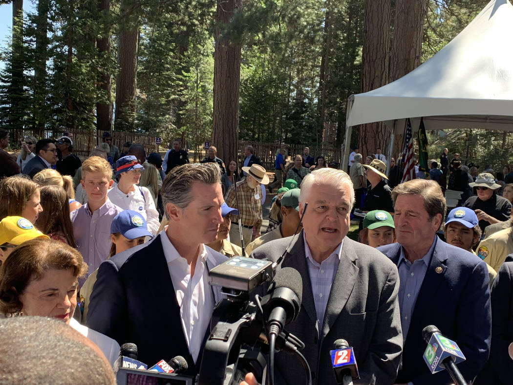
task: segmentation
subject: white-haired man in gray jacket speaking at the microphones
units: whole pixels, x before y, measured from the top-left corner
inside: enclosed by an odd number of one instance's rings
[[[305,211],[306,203],[308,203]],[[349,176],[322,168],[301,184],[299,210],[305,211],[303,232],[292,240],[281,267],[293,267],[303,277],[301,310],[285,329],[304,343],[312,382],[336,384],[329,351],[346,339],[360,370],[355,384],[392,384],[402,351],[396,266],[383,254],[346,237],[354,203]],[[255,258],[277,260],[291,238],[255,249]],[[250,375],[247,377],[248,382]],[[305,383],[305,370],[293,356],[275,357],[277,384]]]

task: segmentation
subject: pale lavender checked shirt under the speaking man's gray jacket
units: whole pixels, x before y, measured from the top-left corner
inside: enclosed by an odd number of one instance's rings
[[[322,330],[324,313],[328,305],[331,284],[339,268],[340,255],[342,253],[342,244],[340,242],[335,251],[321,263],[315,261],[310,252],[310,247],[305,238],[305,255],[308,274],[312,284],[313,302],[315,303],[315,312],[317,313],[317,330]]]

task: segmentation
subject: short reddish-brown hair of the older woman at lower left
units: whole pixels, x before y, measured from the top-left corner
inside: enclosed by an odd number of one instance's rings
[[[0,312],[21,312],[23,303],[19,295],[31,281],[41,279],[52,268],[71,268],[75,277],[87,273],[80,253],[63,242],[36,238],[15,247],[0,269]]]

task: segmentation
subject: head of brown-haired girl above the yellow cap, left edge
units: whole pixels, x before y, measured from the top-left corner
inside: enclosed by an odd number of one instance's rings
[[[0,180],[0,220],[5,217],[23,217],[34,224],[41,207],[39,185],[26,176]]]

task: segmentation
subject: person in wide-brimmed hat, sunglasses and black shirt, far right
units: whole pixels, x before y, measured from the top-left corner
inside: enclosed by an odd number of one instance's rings
[[[483,172],[478,175],[476,182],[468,185],[476,187],[477,196],[468,198],[463,206],[475,211],[479,219],[479,227],[483,232],[486,226],[509,219],[511,203],[506,198],[497,195],[497,189],[501,185],[495,183],[493,175]]]

